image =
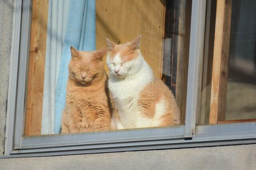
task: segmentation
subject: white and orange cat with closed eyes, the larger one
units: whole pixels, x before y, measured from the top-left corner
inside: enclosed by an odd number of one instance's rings
[[[180,111],[169,88],[153,75],[140,53],[141,35],[117,45],[106,39],[112,129],[180,124]]]

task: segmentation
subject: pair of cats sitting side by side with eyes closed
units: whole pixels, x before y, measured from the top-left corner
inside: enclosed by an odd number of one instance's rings
[[[108,77],[102,61],[106,48],[71,47],[61,133],[180,124],[176,100],[142,57],[140,39],[119,45],[106,39]]]

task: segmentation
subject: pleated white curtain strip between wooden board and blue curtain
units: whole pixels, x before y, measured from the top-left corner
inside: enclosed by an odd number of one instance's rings
[[[51,134],[54,129],[55,89],[62,55],[62,44],[64,43],[69,4],[70,0],[49,0],[42,134]]]

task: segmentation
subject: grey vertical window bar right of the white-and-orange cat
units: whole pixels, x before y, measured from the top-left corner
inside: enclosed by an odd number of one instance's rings
[[[204,49],[204,26],[206,0],[192,1],[190,49],[188,61],[188,88],[186,103],[185,138],[191,138],[196,126],[198,89],[200,86],[200,63]]]

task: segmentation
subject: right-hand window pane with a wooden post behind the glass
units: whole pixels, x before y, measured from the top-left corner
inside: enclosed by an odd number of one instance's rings
[[[207,3],[199,124],[256,119],[255,8],[254,0]]]

